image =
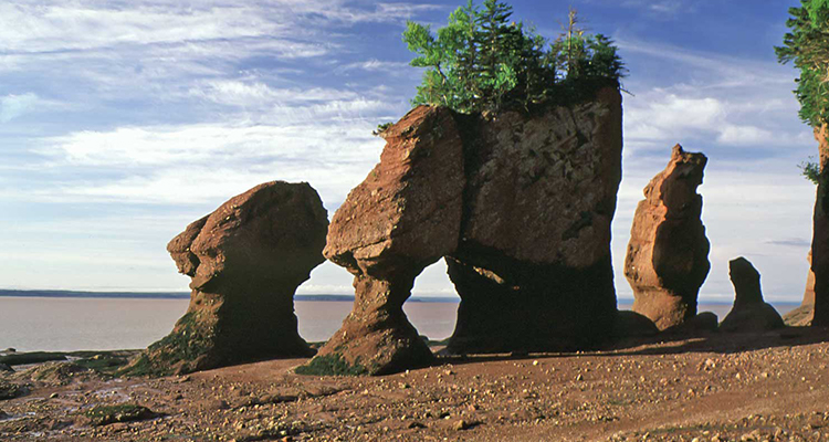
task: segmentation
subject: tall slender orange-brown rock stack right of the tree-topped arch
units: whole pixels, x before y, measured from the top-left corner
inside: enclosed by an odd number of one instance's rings
[[[709,240],[702,224],[702,183],[707,158],[676,145],[668,167],[644,188],[630,230],[625,276],[633,311],[660,329],[696,315],[696,296],[709,274]]]

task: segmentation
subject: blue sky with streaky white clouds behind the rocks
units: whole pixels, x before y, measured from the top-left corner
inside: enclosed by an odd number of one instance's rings
[[[0,2],[0,288],[187,291],[167,242],[253,186],[307,181],[328,215],[379,160],[422,71],[407,20],[445,23],[461,0],[15,0]],[[569,7],[629,70],[612,254],[676,143],[709,157],[702,301],[734,297],[746,256],[767,299],[802,297],[817,154],[797,73],[776,62],[796,0],[514,0],[555,38]],[[325,263],[298,293],[353,293]],[[453,294],[442,262],[416,295]]]

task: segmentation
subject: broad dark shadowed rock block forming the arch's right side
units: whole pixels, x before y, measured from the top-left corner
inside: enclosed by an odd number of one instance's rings
[[[610,223],[621,180],[621,96],[531,117],[464,122],[461,296],[453,352],[567,350],[609,336]]]

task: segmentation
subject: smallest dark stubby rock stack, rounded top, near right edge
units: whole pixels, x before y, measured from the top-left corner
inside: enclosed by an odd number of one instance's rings
[[[785,327],[777,311],[763,301],[760,274],[748,260],[741,256],[728,262],[731,282],[736,297],[734,307],[723,323],[722,332],[766,332]]]

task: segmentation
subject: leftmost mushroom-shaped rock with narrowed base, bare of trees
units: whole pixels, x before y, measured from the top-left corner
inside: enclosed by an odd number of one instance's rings
[[[192,280],[190,306],[125,372],[313,355],[297,333],[293,296],[324,261],[327,225],[316,191],[284,181],[256,186],[188,225],[167,250]]]

